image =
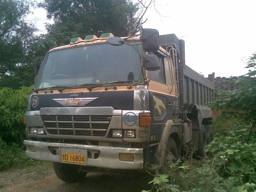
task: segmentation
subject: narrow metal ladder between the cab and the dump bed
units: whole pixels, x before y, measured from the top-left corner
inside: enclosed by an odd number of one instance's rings
[[[184,100],[183,100],[183,66],[180,63],[180,79],[179,79],[179,69],[178,69],[178,59],[177,59],[177,50],[171,45],[169,54],[172,56],[172,62],[174,67],[174,78],[175,78],[175,119],[181,119],[181,123],[184,123]],[[166,47],[166,49],[168,48]],[[180,115],[179,115],[180,114]]]

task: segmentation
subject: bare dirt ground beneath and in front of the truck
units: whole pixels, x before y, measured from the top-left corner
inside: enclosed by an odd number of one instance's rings
[[[80,182],[65,183],[55,175],[52,166],[37,166],[0,172],[0,191],[140,192],[152,187],[148,185],[152,179],[147,173],[136,173],[133,177],[88,173]]]

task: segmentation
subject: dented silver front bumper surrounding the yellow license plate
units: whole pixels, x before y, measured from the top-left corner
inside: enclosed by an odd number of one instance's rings
[[[68,143],[49,143],[43,141],[24,140],[26,145],[25,155],[29,158],[52,161],[58,163],[66,163],[61,161],[61,152],[84,154],[85,166],[109,168],[109,169],[143,169],[143,148],[124,148],[124,147],[109,147],[109,146],[93,146],[93,145],[80,145]],[[35,146],[36,152],[32,152],[29,146]],[[53,155],[49,147],[59,149],[59,155]],[[99,151],[99,157],[96,159],[88,158],[88,150]],[[119,154],[133,154],[133,161],[121,161]]]

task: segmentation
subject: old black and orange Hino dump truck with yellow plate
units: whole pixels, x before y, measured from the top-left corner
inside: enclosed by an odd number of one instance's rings
[[[185,65],[174,34],[140,27],[134,36],[73,38],[36,58],[35,73],[25,155],[53,162],[60,180],[168,168],[184,149],[206,155],[214,73],[206,79]]]

